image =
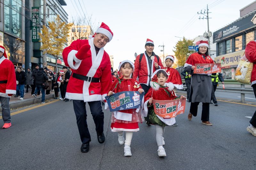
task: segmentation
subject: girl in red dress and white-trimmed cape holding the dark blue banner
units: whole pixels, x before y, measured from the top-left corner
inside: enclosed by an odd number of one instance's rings
[[[121,62],[119,70],[122,73],[122,76],[112,83],[109,88],[108,96],[123,91],[138,91],[140,94],[144,92],[139,82],[132,79],[134,64],[131,61],[125,60]],[[105,109],[106,108],[107,107],[105,107]],[[139,131],[138,122],[143,122],[143,118],[140,115],[140,108],[112,112],[111,122],[111,131],[118,132],[118,142],[119,144],[124,144],[124,156],[132,156],[130,147],[132,133]],[[124,131],[126,132],[125,140]]]

